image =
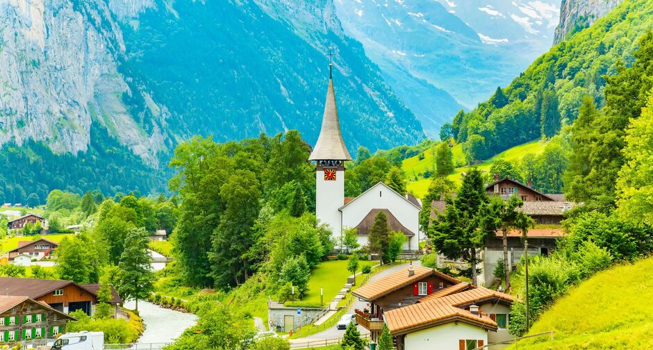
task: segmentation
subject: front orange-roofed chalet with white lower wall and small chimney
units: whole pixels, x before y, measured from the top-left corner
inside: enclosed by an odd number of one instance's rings
[[[513,301],[509,294],[458,283],[389,310],[384,321],[397,350],[471,350],[512,338]]]

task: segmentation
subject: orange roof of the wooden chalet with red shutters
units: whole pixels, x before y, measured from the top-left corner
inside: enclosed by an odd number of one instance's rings
[[[413,276],[408,276],[408,269],[411,267],[413,268],[414,274]],[[356,295],[358,298],[365,299],[367,301],[373,301],[383,297],[386,294],[390,294],[390,292],[404,288],[406,285],[411,285],[415,281],[420,281],[422,278],[426,278],[428,276],[438,276],[443,278],[445,281],[449,281],[450,283],[454,284],[461,282],[456,278],[447,276],[435,269],[429,269],[428,267],[422,266],[411,267],[399,269],[397,272],[392,272],[392,274],[383,276],[377,281],[367,283],[360,288],[352,291],[352,294]]]

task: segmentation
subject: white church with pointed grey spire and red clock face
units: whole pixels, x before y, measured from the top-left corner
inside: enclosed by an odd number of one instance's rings
[[[315,215],[322,224],[331,228],[333,240],[338,242],[336,247],[341,248],[339,242],[348,228],[357,229],[358,244],[365,247],[374,218],[382,211],[388,217],[390,230],[406,235],[404,251],[415,251],[420,240],[424,239],[419,224],[422,204],[418,199],[397,193],[384,183],[377,183],[356,198],[345,197],[345,161],[352,160],[352,156],[340,133],[331,68],[329,64],[329,88],[322,129],[308,158],[316,162]]]

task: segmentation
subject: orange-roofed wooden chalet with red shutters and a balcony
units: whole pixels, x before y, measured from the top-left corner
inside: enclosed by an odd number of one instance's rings
[[[383,328],[384,313],[412,305],[423,297],[459,283],[461,281],[456,278],[427,267],[400,269],[352,291],[358,299],[370,305],[366,310],[357,310],[356,321],[367,328],[372,341],[376,341]]]

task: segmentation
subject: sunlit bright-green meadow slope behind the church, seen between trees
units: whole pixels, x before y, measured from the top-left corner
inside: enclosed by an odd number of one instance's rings
[[[495,160],[503,159],[509,162],[518,162],[525,154],[531,153],[534,156],[540,155],[543,151],[547,142],[542,140],[534,140],[527,142],[525,144],[520,144],[518,146],[507,149],[492,158],[484,160],[479,163],[478,167],[483,172],[489,172],[492,163]],[[452,147],[452,153],[454,155],[454,164],[465,163],[465,156],[463,155],[463,148],[461,144],[456,144]],[[402,169],[406,173],[406,178],[408,178],[408,191],[413,192],[416,196],[422,197],[427,190],[429,189],[429,184],[431,183],[431,178],[424,178],[420,176],[425,171],[433,168],[433,153],[430,151],[424,151],[424,158],[420,160],[420,156],[414,156],[404,160],[402,163]],[[457,167],[456,171],[452,174],[449,174],[447,178],[454,181],[454,183],[459,184],[461,182],[461,174],[469,169],[469,166],[465,165],[463,167]]]

